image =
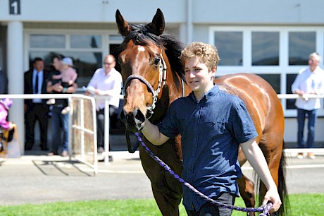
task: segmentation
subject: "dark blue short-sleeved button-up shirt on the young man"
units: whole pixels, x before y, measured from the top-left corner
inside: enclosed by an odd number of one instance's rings
[[[239,143],[258,136],[242,100],[217,85],[199,102],[190,93],[170,105],[158,128],[170,138],[181,134],[185,181],[208,197],[221,192],[238,196]],[[182,203],[188,210],[199,210],[206,203],[186,186],[183,189]]]

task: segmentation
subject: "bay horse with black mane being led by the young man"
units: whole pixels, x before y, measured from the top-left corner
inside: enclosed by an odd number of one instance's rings
[[[145,118],[149,118],[153,124],[158,124],[166,115],[171,102],[187,96],[191,91],[182,81],[185,80],[184,68],[179,56],[184,44],[173,35],[164,32],[164,16],[159,8],[151,23],[147,25],[128,23],[119,10],[116,11],[116,23],[118,31],[124,37],[118,50],[125,94],[120,118],[125,123],[126,131],[139,132]],[[222,76],[216,79],[215,83],[221,90],[237,95],[246,104],[258,132],[256,141],[266,157],[280,197],[284,200],[287,193],[283,169],[285,158],[282,153],[284,116],[277,94],[266,80],[253,74]],[[178,175],[182,172],[180,139],[180,136],[177,136],[163,145],[156,146],[149,143],[144,136],[142,138],[151,152],[166,162]],[[180,182],[155,162],[142,146],[139,146],[139,155],[162,215],[179,215],[178,205],[182,199]],[[239,151],[238,159],[241,166],[247,160],[242,150]],[[254,207],[253,181],[243,176],[237,182],[246,206]],[[263,198],[266,192],[263,184],[260,191]],[[284,212],[284,205],[280,212]]]

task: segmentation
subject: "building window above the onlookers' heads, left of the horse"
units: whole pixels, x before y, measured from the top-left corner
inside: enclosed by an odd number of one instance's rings
[[[30,66],[36,57],[44,59],[46,68],[51,68],[53,56],[61,54],[73,59],[80,88],[87,85],[94,71],[102,66],[102,35],[85,34],[30,34],[28,56]]]

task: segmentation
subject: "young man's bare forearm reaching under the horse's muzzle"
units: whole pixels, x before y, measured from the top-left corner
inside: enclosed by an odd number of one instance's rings
[[[166,143],[168,139],[170,139],[167,136],[164,136],[163,133],[158,130],[158,126],[151,124],[151,122],[147,119],[144,122],[142,133],[147,138],[147,140],[149,140],[154,145],[162,145],[163,143]]]

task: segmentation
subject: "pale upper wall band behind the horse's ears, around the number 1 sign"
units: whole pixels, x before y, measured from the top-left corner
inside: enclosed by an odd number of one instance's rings
[[[184,21],[185,0],[28,0],[20,1],[21,14],[8,15],[9,1],[0,1],[0,20],[23,20],[44,22],[115,22],[115,13],[119,9],[125,18],[133,23],[150,22],[161,8],[167,22]]]

